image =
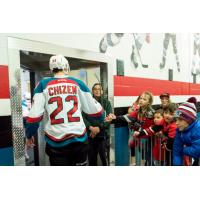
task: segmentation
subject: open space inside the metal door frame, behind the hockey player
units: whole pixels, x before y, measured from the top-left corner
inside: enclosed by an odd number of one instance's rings
[[[20,51],[21,67],[21,90],[22,90],[22,114],[23,118],[28,115],[27,110],[31,107],[34,88],[37,83],[52,74],[48,67],[49,59],[52,55],[44,53],[35,53],[29,51]],[[70,76],[76,77],[89,88],[96,82],[100,82],[100,63],[96,61],[86,61],[83,59],[68,58],[70,65]],[[23,123],[25,125],[25,123]],[[40,123],[38,134],[35,136],[36,146],[33,149],[25,149],[26,165],[44,166],[49,165],[45,154],[45,141],[43,135],[43,123]]]

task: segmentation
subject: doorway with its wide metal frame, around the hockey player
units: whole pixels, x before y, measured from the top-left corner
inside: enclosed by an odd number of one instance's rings
[[[42,123],[38,137],[36,138],[37,146],[34,148],[34,152],[32,152],[33,159],[29,163],[26,162],[21,102],[27,93],[32,98],[36,84],[43,77],[52,76],[48,68],[48,62],[49,58],[55,54],[63,54],[69,61],[71,68],[70,75],[81,79],[90,89],[94,83],[101,82],[105,96],[109,98],[113,105],[113,80],[112,78],[108,79],[109,73],[111,74],[111,65],[114,64],[112,59],[106,57],[104,54],[101,55],[99,53],[60,47],[47,43],[8,38],[15,165],[48,165],[48,159],[44,153],[44,138],[40,134],[43,130]],[[108,85],[111,87],[108,87]],[[112,150],[112,152],[114,151]]]

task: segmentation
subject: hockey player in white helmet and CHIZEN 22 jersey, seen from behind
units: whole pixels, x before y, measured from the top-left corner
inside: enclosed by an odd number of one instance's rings
[[[81,111],[104,121],[104,110],[82,81],[68,76],[70,67],[64,56],[52,56],[49,66],[54,77],[42,79],[35,88],[26,144],[33,146],[33,134],[44,116],[50,165],[86,165],[88,142]]]

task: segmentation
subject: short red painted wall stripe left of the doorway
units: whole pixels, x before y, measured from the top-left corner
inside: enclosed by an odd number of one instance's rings
[[[8,66],[0,65],[0,99],[9,99]]]

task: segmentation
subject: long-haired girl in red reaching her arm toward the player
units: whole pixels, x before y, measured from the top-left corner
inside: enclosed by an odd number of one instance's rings
[[[153,114],[154,110],[152,109],[151,105],[153,103],[153,95],[151,92],[145,91],[140,95],[139,98],[139,107],[135,109],[128,115],[123,116],[115,116],[114,114],[110,114],[106,117],[106,121],[115,121],[123,120],[128,123],[131,123],[131,129],[134,131],[134,134],[137,135],[141,130],[146,132],[150,132],[149,127],[153,125]],[[141,140],[142,138],[142,140]],[[143,135],[141,138],[138,138],[136,141],[132,139],[131,147],[135,146],[139,152],[139,156],[136,153],[136,164],[141,164],[141,150],[144,152],[145,157],[145,165],[152,164],[152,157],[151,157],[151,139],[148,136]]]

